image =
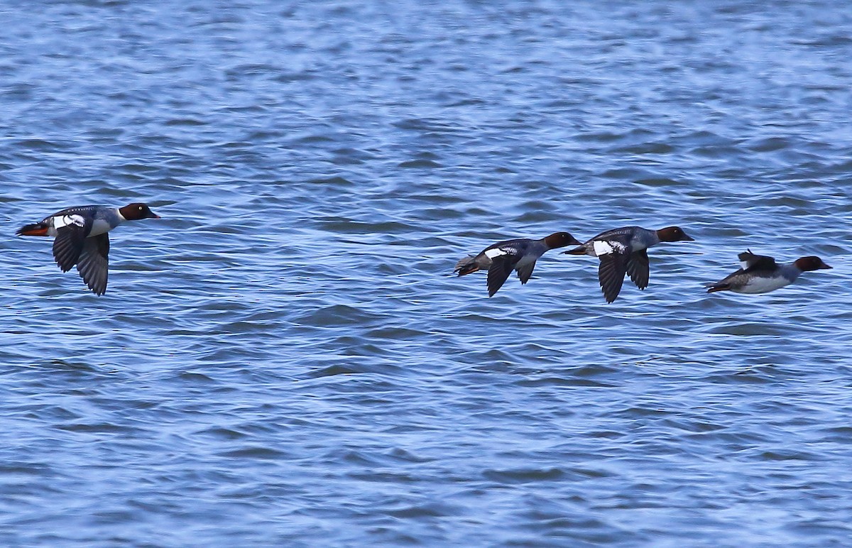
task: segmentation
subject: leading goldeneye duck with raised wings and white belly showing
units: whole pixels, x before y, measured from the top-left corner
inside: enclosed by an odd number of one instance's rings
[[[801,257],[790,264],[778,264],[773,257],[755,255],[751,250],[737,257],[742,268],[727,278],[708,284],[707,292],[734,291],[735,293],[769,293],[780,287],[789,286],[803,273],[832,268],[820,257]]]

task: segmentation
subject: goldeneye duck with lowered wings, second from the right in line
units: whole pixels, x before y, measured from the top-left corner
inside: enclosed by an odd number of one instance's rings
[[[625,227],[607,230],[579,247],[563,251],[567,255],[590,255],[601,259],[597,279],[607,303],[619,297],[625,274],[639,289],[648,287],[648,247],[659,242],[693,241],[679,227],[648,230]]]

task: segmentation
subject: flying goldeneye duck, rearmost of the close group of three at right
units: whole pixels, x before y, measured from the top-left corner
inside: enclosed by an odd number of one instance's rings
[[[542,239],[507,239],[489,245],[476,257],[468,256],[456,263],[459,276],[470,274],[477,270],[488,271],[488,297],[503,286],[512,273],[512,268],[518,271],[521,284],[526,284],[533,275],[533,268],[538,257],[544,255],[545,251],[565,247],[566,245],[579,245],[579,240],[567,232],[557,232]]]

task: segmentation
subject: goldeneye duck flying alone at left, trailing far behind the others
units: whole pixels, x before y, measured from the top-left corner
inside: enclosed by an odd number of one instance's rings
[[[124,221],[158,219],[145,204],[124,207],[80,205],[57,211],[41,221],[18,229],[19,236],[55,236],[53,251],[62,272],[77,265],[80,277],[95,292],[107,292],[109,236],[107,232]]]

